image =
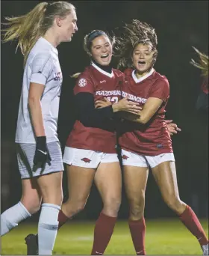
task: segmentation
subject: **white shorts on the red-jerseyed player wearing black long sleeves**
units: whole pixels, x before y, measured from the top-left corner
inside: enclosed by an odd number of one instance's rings
[[[63,162],[68,165],[97,168],[101,162],[119,162],[119,159],[116,153],[65,147]]]

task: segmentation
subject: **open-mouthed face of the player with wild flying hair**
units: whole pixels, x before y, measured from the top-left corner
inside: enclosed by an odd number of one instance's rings
[[[137,44],[132,54],[132,61],[138,78],[149,73],[155,61],[155,51],[153,51],[152,45],[150,43]]]

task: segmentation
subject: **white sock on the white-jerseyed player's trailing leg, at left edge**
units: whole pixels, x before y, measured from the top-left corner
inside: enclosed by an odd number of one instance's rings
[[[19,202],[18,204],[10,207],[1,214],[1,236],[7,234],[11,229],[15,228],[19,222],[31,217],[31,213],[25,206]]]

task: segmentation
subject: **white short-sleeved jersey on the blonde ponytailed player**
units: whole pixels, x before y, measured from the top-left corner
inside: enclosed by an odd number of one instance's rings
[[[46,141],[57,141],[57,118],[63,76],[57,49],[43,37],[40,37],[31,49],[25,64],[16,127],[15,141],[18,143],[36,143],[28,109],[30,82],[45,85],[41,106]]]

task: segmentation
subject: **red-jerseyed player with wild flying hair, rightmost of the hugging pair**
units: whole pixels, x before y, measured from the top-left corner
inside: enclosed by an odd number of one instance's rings
[[[155,29],[145,22],[133,20],[122,32],[117,47],[119,67],[128,67],[122,97],[128,95],[129,100],[143,107],[140,115],[125,116],[128,121],[124,121],[119,138],[130,204],[129,227],[137,255],[146,255],[144,207],[149,167],[163,200],[197,238],[204,255],[208,255],[208,237],[196,214],[178,195],[172,142],[164,122],[169,82],[153,68],[157,58]]]

